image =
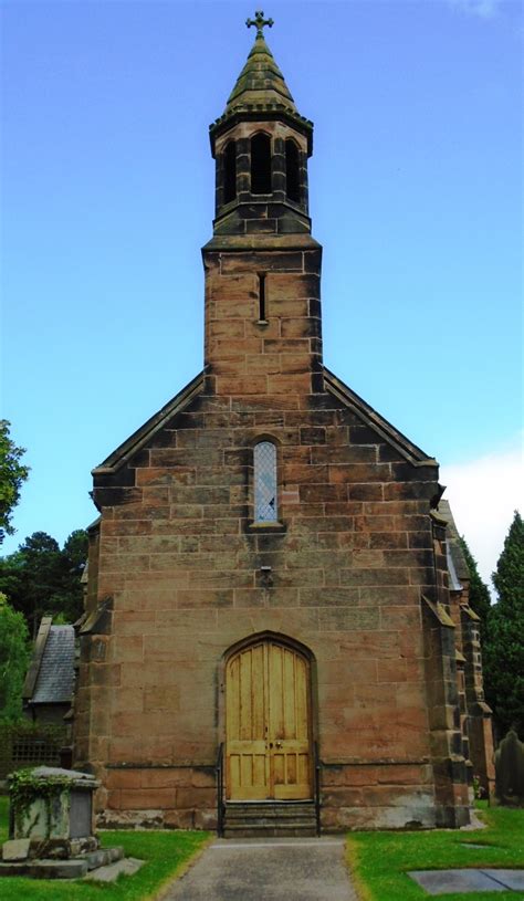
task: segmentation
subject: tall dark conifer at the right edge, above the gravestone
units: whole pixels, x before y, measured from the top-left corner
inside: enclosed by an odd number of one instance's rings
[[[515,511],[493,584],[484,641],[486,698],[501,735],[514,726],[524,738],[524,524]]]

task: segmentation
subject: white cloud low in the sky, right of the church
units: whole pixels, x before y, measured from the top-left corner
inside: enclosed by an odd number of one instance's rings
[[[482,578],[492,589],[491,574],[513,513],[515,510],[524,512],[521,439],[511,450],[442,465],[440,481],[447,485],[444,496],[451,504],[457,528],[465,537]]]

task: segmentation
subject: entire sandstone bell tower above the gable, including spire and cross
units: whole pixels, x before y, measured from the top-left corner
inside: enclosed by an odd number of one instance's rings
[[[321,245],[311,237],[301,116],[258,11],[256,35],[223,114],[210,126],[213,238],[206,269],[207,388],[219,395],[323,390]]]

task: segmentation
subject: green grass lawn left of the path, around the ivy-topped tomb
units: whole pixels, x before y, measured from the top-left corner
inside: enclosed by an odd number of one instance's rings
[[[8,837],[8,799],[0,797],[0,844]],[[2,901],[146,901],[154,899],[163,887],[184,870],[188,860],[206,844],[209,832],[117,831],[102,832],[105,847],[122,845],[127,857],[145,860],[135,876],[120,876],[118,881],[103,886],[83,880],[0,879]]]

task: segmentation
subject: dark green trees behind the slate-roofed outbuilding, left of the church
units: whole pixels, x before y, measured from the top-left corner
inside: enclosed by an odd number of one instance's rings
[[[60,549],[45,532],[34,532],[14,554],[0,559],[0,590],[27,619],[33,638],[42,616],[74,622],[83,609],[82,572],[87,534],[73,532]]]

